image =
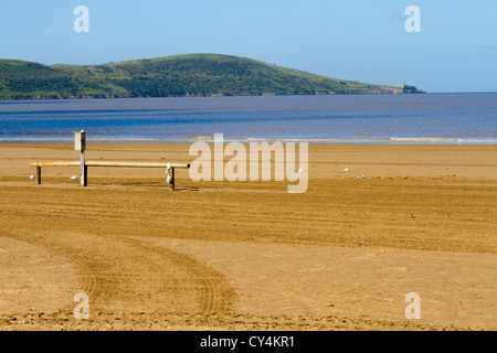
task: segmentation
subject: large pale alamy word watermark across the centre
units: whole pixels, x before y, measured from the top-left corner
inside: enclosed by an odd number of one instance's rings
[[[274,174],[275,181],[286,179],[289,182],[297,182],[288,185],[288,193],[307,191],[309,176],[307,142],[298,142],[298,167],[295,142],[285,145],[278,141],[250,142],[247,150],[242,142],[224,145],[223,133],[214,133],[213,150],[208,142],[199,141],[190,146],[189,156],[197,156],[190,163],[189,172],[192,181],[271,181]],[[231,159],[224,163],[224,157]]]

